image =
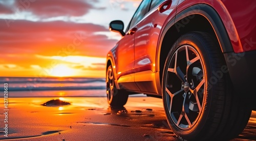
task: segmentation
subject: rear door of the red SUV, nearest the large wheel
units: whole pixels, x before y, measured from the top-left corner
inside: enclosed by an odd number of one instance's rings
[[[160,32],[168,16],[175,17],[178,0],[152,0],[148,12],[136,25],[135,33],[135,82],[143,92],[157,93],[156,63]],[[152,86],[152,87],[151,87]]]

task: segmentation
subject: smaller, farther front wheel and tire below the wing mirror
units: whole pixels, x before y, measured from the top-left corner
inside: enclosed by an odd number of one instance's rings
[[[118,90],[115,86],[114,72],[110,65],[106,70],[106,97],[111,106],[121,107],[126,104],[128,94],[124,90]]]

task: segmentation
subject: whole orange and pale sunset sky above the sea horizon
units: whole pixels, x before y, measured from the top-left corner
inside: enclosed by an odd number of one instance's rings
[[[104,77],[106,53],[141,0],[0,0],[0,76]]]

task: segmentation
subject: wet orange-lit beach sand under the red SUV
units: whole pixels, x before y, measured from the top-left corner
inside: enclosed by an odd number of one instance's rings
[[[65,106],[42,106],[59,98],[9,98],[8,137],[0,103],[2,140],[178,140],[169,129],[162,99],[129,97],[111,109],[105,97],[64,97]],[[2,99],[3,101],[3,99]],[[256,112],[236,139],[256,140]]]

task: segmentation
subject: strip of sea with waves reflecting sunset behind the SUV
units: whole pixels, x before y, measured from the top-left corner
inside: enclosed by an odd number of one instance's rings
[[[105,78],[0,77],[0,90],[4,83],[8,97],[106,97]]]

